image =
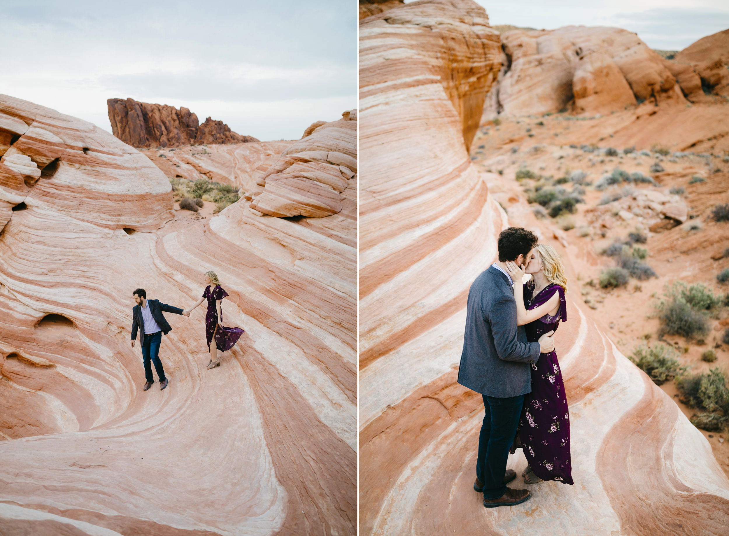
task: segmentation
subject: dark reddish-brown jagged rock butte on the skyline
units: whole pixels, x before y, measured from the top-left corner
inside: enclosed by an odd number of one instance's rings
[[[109,98],[112,132],[132,147],[182,147],[190,144],[228,144],[259,141],[241,136],[222,121],[208,117],[202,125],[189,109],[147,104],[132,98]]]

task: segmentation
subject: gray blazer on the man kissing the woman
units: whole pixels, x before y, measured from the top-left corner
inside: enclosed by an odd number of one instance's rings
[[[507,398],[531,392],[529,364],[539,360],[539,343],[526,341],[516,325],[509,278],[493,266],[468,291],[466,334],[458,382],[481,395]]]

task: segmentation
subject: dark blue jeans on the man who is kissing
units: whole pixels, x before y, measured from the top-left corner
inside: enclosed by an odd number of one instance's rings
[[[483,498],[498,499],[506,492],[506,462],[519,424],[524,395],[509,398],[482,396],[486,416],[478,436],[476,476],[483,483]]]

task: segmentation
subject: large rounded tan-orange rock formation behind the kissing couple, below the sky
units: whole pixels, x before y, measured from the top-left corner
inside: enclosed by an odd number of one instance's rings
[[[663,58],[620,28],[566,26],[501,36],[504,67],[485,115],[599,113],[631,104],[685,104]]]

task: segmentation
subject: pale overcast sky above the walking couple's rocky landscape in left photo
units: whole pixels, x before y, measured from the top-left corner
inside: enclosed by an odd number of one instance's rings
[[[356,107],[354,0],[0,0],[0,93],[111,132],[107,98],[261,140]]]

